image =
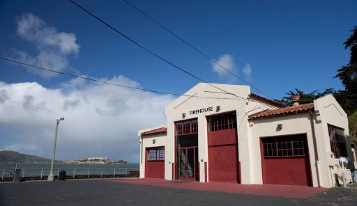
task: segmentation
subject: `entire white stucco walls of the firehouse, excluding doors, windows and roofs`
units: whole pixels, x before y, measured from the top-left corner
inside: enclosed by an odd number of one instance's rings
[[[264,98],[251,97],[249,86],[213,84],[222,90],[233,93],[238,97],[226,94],[217,88],[213,88],[208,84],[197,84],[192,89],[188,90],[185,95],[181,96],[167,105],[165,113],[167,116],[167,134],[156,134],[145,136],[140,139],[143,144],[143,150],[140,155],[140,177],[144,177],[145,171],[145,148],[165,146],[165,179],[173,180],[172,163],[175,162],[175,135],[174,122],[197,118],[198,120],[198,151],[199,151],[199,168],[200,182],[205,181],[204,163],[208,165],[208,143],[207,143],[207,116],[218,113],[236,111],[237,119],[237,136],[238,136],[238,160],[241,164],[241,183],[242,184],[262,184],[261,172],[261,154],[260,142],[261,136],[278,136],[289,134],[306,134],[307,146],[309,149],[310,168],[312,173],[313,187],[333,187],[334,182],[331,180],[331,148],[328,136],[327,124],[341,127],[344,129],[345,135],[349,135],[347,115],[344,113],[340,105],[332,97],[328,95],[319,100],[314,101],[315,111],[294,113],[286,116],[275,116],[263,119],[251,120],[250,124],[248,116],[266,109],[277,109],[278,106],[264,100]],[[202,98],[205,97],[205,98]],[[213,97],[213,98],[211,98]],[[260,101],[260,102],[259,102]],[[190,111],[197,109],[205,109],[213,107],[213,111],[204,113],[192,114]],[[218,111],[216,108],[220,106]],[[183,113],[185,116],[183,116]],[[316,161],[314,141],[312,136],[312,123],[316,136],[316,148],[319,161]],[[282,124],[282,129],[277,129],[278,124]],[[147,132],[153,129],[164,127],[153,127],[139,131],[139,136],[142,132]],[[139,137],[140,138],[140,137]],[[152,139],[156,139],[153,145]],[[141,146],[141,145],[140,145]],[[351,154],[349,138],[347,138],[347,150]],[[143,154],[142,154],[143,152]],[[352,157],[352,156],[351,156]],[[330,158],[330,159],[328,159]],[[319,164],[317,164],[319,162]],[[333,161],[332,161],[333,162]],[[333,164],[333,163],[332,163]],[[336,168],[333,168],[333,173]],[[319,174],[318,174],[319,171]],[[209,176],[209,171],[207,171]],[[319,177],[319,178],[318,178]],[[208,177],[206,177],[207,180]]]

